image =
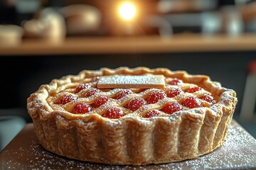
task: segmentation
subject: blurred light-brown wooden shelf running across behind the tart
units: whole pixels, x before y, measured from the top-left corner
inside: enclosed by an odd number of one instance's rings
[[[63,55],[256,50],[256,34],[239,36],[180,34],[170,38],[70,37],[61,42],[25,39],[13,47],[0,45],[0,55]]]

